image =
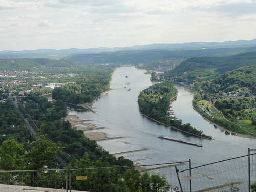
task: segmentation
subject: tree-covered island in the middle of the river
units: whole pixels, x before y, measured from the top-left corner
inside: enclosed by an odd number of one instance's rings
[[[139,109],[142,114],[159,121],[163,124],[176,127],[179,130],[186,131],[205,138],[211,138],[192,127],[189,123],[182,124],[181,120],[175,120],[167,117],[170,107],[170,101],[177,94],[177,89],[172,84],[155,84],[140,92],[138,96]]]

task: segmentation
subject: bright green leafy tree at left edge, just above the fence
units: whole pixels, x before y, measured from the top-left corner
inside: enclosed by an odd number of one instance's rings
[[[19,144],[14,139],[5,140],[0,146],[0,169],[22,170],[23,152],[23,144]]]

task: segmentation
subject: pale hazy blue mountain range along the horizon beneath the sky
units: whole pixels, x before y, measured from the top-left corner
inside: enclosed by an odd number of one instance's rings
[[[142,50],[201,50],[201,49],[220,49],[220,48],[251,48],[256,47],[256,39],[253,40],[238,40],[225,42],[190,42],[182,44],[149,44],[135,45],[132,47],[115,47],[115,48],[89,48],[89,49],[38,49],[38,50],[23,50],[23,51],[0,51],[0,58],[51,58],[60,59],[73,54],[91,54],[102,52],[125,52],[125,51],[142,51]],[[242,51],[244,52],[244,51]]]

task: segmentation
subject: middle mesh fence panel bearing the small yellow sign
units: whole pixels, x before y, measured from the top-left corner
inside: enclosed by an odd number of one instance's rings
[[[157,189],[154,190],[154,187],[152,186],[153,183],[149,183],[154,181],[148,180],[147,175],[156,175],[160,178],[165,178],[169,189],[179,187],[175,166],[183,169],[189,168],[189,161],[128,167],[71,169],[71,185],[74,189],[84,191],[125,191],[122,188],[123,183],[120,182],[120,180],[125,180],[124,182],[126,185],[140,185],[142,191],[165,191],[165,189],[161,189],[161,187],[156,187]],[[136,183],[131,176],[132,174],[127,172],[127,169],[138,171],[140,177],[144,177],[144,180],[140,180],[140,183]],[[116,180],[116,177],[114,176],[118,174],[122,174],[122,177],[119,175]],[[84,176],[87,176],[87,179],[81,179],[78,182],[76,181],[77,177],[83,178]],[[129,179],[127,179],[127,177]],[[131,182],[131,184],[129,182]],[[113,185],[113,183],[116,183],[118,186]],[[148,187],[146,186],[147,184],[151,186]],[[148,187],[148,189],[146,189],[146,187]],[[134,188],[136,188],[136,186]],[[133,191],[131,189],[133,189],[133,187],[130,186],[130,190],[128,191]]]

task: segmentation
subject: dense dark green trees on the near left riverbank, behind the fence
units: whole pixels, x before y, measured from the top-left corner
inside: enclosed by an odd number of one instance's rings
[[[0,103],[1,170],[64,168],[65,165],[55,155],[59,155],[72,169],[133,165],[131,160],[110,155],[95,141],[85,137],[82,131],[74,129],[68,121],[63,121],[61,118],[66,115],[63,101],[51,103],[47,98],[36,94],[22,97],[21,101],[20,111],[36,120],[34,122],[39,129],[35,137],[32,137],[12,101],[7,99]],[[84,185],[75,179],[81,172],[77,170],[72,174],[73,190],[84,190]],[[23,181],[26,186],[55,188],[56,183],[50,181],[58,179],[61,180],[58,188],[66,186],[65,174],[33,173],[29,172],[30,179],[26,179],[28,174],[8,173],[0,182],[17,184],[18,180]],[[87,180],[87,189],[90,191],[168,191],[170,188],[164,176],[147,172],[140,174],[134,168],[93,169],[86,175],[90,178]]]

